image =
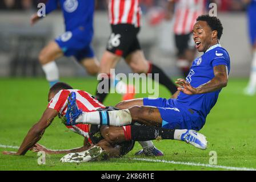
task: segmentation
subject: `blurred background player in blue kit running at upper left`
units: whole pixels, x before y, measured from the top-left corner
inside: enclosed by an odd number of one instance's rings
[[[91,48],[94,0],[49,0],[46,3],[46,15],[57,9],[58,5],[63,13],[66,32],[43,48],[38,57],[50,86],[59,81],[54,60],[62,56],[74,56],[89,75],[97,75],[99,71],[98,60]],[[31,25],[39,19],[41,17],[37,13],[32,15]]]

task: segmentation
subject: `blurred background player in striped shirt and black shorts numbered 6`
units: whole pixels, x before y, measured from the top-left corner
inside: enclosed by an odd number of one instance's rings
[[[141,8],[139,0],[109,0],[109,22],[111,24],[111,35],[107,43],[106,51],[103,53],[100,65],[96,98],[103,102],[108,93],[100,93],[101,82],[111,84],[110,69],[116,67],[118,61],[123,57],[134,73],[159,74],[159,83],[174,94],[177,90],[170,78],[156,65],[146,60],[137,35],[141,27]],[[101,74],[104,73],[104,74]],[[119,82],[118,82],[119,84]],[[118,85],[117,85],[118,86]],[[124,87],[125,88],[125,87]],[[133,89],[130,89],[133,90]],[[129,98],[131,99],[131,98]]]

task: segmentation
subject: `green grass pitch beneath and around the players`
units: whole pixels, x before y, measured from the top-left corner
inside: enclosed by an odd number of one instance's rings
[[[63,78],[76,89],[95,92],[95,78]],[[206,119],[200,131],[209,141],[207,150],[202,151],[189,144],[160,140],[154,144],[165,153],[159,158],[141,157],[149,160],[190,162],[209,164],[209,152],[217,152],[218,166],[256,168],[256,97],[244,96],[246,86],[243,79],[230,79],[223,89],[217,104]],[[19,146],[30,127],[39,120],[47,106],[48,83],[44,78],[1,78],[0,79],[0,145]],[[145,97],[138,94],[137,97]],[[169,97],[160,86],[160,97]],[[105,105],[115,105],[121,100],[118,94],[107,97]],[[83,138],[68,131],[56,118],[46,130],[39,143],[51,149],[80,147]],[[134,153],[141,149],[135,144],[133,151],[121,159],[83,164],[60,163],[62,155],[47,155],[46,164],[38,165],[38,156],[27,152],[25,156],[6,156],[2,151],[16,151],[0,148],[0,170],[225,170],[212,166],[193,166],[166,162],[142,162],[133,160]]]

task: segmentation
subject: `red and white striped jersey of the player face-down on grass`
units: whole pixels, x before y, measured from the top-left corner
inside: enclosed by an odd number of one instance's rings
[[[67,97],[69,97],[70,92],[75,92],[77,94],[77,106],[79,109],[91,112],[99,108],[105,108],[99,101],[97,101],[91,94],[83,90],[60,90],[55,94],[54,98],[49,102],[48,108],[55,109],[61,116],[64,116],[67,111]],[[89,125],[78,124],[74,126],[66,126],[71,131],[74,131],[77,134],[89,137]]]

